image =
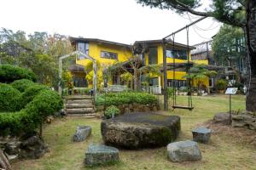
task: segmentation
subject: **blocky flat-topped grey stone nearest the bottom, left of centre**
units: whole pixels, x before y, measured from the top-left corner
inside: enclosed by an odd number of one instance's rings
[[[90,144],[85,152],[85,164],[88,166],[102,165],[119,161],[119,150],[103,145]]]

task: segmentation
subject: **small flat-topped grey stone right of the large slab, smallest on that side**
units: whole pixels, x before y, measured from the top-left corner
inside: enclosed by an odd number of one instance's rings
[[[211,138],[212,130],[206,127],[198,127],[192,130],[193,140],[207,144]]]

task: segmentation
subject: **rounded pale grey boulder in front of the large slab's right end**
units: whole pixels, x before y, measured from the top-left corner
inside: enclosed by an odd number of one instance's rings
[[[201,150],[194,141],[173,142],[167,145],[168,157],[171,161],[201,160]]]

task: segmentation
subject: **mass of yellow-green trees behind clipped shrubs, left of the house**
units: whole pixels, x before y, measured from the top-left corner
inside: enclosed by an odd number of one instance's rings
[[[73,46],[60,34],[34,32],[26,36],[24,31],[0,29],[0,63],[30,68],[38,76],[38,82],[57,88],[58,58],[69,54]],[[73,59],[67,59],[67,63]]]

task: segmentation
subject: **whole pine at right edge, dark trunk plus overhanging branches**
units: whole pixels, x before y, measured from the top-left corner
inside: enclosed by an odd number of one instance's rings
[[[209,1],[210,2],[210,1]],[[256,111],[256,1],[212,0],[208,9],[201,11],[201,0],[137,0],[146,6],[175,10],[179,14],[189,12],[199,16],[213,17],[230,26],[241,27],[246,33],[247,47],[247,111]]]

